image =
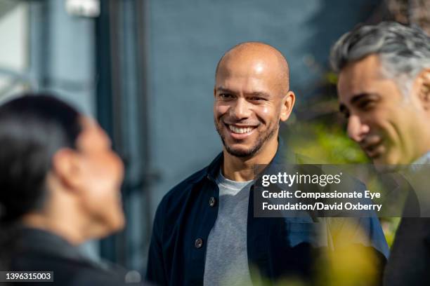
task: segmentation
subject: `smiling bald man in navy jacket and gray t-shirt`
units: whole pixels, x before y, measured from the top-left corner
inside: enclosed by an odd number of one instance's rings
[[[313,278],[313,253],[320,245],[312,243],[319,241],[314,230],[320,224],[254,217],[254,165],[285,163],[278,134],[294,101],[279,50],[247,42],[221,57],[214,123],[223,151],[160,203],[148,254],[150,282],[253,285],[256,273],[271,282]],[[370,232],[382,235],[380,226]]]

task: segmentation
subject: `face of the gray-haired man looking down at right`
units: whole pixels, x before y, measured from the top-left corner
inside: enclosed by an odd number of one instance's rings
[[[348,136],[373,163],[407,164],[423,154],[419,134],[425,122],[415,91],[404,96],[393,79],[386,79],[377,55],[344,67],[338,90]]]

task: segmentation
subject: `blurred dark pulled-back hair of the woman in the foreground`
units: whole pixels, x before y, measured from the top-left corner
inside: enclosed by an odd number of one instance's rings
[[[0,222],[38,210],[59,149],[75,149],[79,112],[51,95],[25,94],[0,107]]]

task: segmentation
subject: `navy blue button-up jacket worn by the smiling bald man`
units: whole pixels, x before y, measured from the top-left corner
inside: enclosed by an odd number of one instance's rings
[[[279,148],[282,149],[282,148]],[[272,163],[285,163],[278,150]],[[219,154],[207,168],[175,186],[157,208],[148,253],[146,278],[155,285],[203,285],[207,238],[218,213],[219,188],[215,182],[221,168]],[[321,245],[321,233],[315,231],[325,219],[254,217],[254,186],[249,194],[247,254],[254,280],[254,269],[270,281],[288,276],[311,280],[315,250]],[[357,226],[367,234],[363,247],[372,247],[382,257],[388,246],[376,217],[360,218]],[[358,241],[361,243],[361,241]],[[220,250],[228,252],[228,249]],[[382,273],[382,269],[380,269]]]

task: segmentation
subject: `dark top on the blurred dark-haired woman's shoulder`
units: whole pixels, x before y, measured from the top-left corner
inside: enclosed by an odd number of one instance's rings
[[[24,226],[8,232],[7,236],[4,232],[1,235],[1,271],[53,271],[53,282],[47,282],[46,285],[136,285],[125,283],[125,269],[119,266],[103,267],[84,257],[77,247],[53,233]]]

